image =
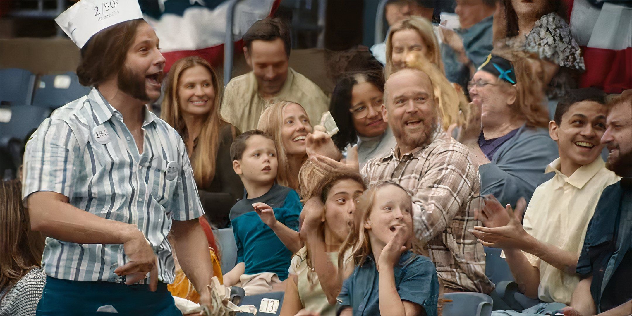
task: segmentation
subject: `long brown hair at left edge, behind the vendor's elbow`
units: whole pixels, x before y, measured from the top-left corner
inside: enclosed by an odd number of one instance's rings
[[[0,181],[0,289],[10,288],[33,266],[39,267],[43,252],[44,236],[30,229],[20,181]]]

